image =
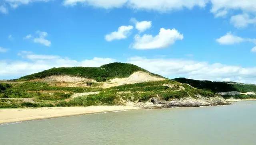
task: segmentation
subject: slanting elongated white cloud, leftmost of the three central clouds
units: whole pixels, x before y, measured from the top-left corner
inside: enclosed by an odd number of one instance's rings
[[[133,29],[132,25],[122,25],[118,28],[118,31],[111,32],[105,36],[106,41],[112,41],[115,39],[125,39],[130,34],[130,31]]]

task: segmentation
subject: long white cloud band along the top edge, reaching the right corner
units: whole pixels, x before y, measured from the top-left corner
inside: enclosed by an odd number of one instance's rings
[[[203,8],[206,4],[211,3],[211,12],[216,16],[225,16],[230,10],[256,12],[255,0],[64,0],[63,2],[66,6],[74,6],[78,3],[106,9],[126,6],[136,10],[154,10],[158,12],[181,10],[183,8],[192,9],[196,6]]]

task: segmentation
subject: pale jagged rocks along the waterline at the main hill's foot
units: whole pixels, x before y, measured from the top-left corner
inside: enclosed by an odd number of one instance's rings
[[[134,103],[135,107],[140,108],[174,108],[174,107],[199,107],[199,106],[216,106],[216,105],[228,105],[224,98],[220,96],[216,97],[203,97],[198,98],[182,98],[172,99],[169,101],[159,98],[150,98],[147,102]]]

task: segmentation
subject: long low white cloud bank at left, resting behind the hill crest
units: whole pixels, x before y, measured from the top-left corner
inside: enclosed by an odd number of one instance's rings
[[[23,59],[20,61],[0,60],[0,79],[18,78],[53,67],[99,67],[115,62],[115,59],[98,57],[76,61],[57,55],[38,55],[27,51],[22,51],[18,55]]]

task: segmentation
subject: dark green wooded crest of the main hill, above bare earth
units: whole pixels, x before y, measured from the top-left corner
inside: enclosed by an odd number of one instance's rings
[[[45,78],[46,76],[52,75],[70,75],[80,76],[85,78],[92,78],[96,81],[106,81],[110,78],[123,78],[128,77],[136,71],[148,72],[136,65],[128,63],[110,63],[102,65],[101,67],[60,67],[52,68],[46,71],[30,74],[19,78],[19,80],[31,80],[35,78]],[[149,72],[150,73],[150,72]],[[150,73],[152,74],[152,73]],[[152,74],[159,76],[157,74]]]

